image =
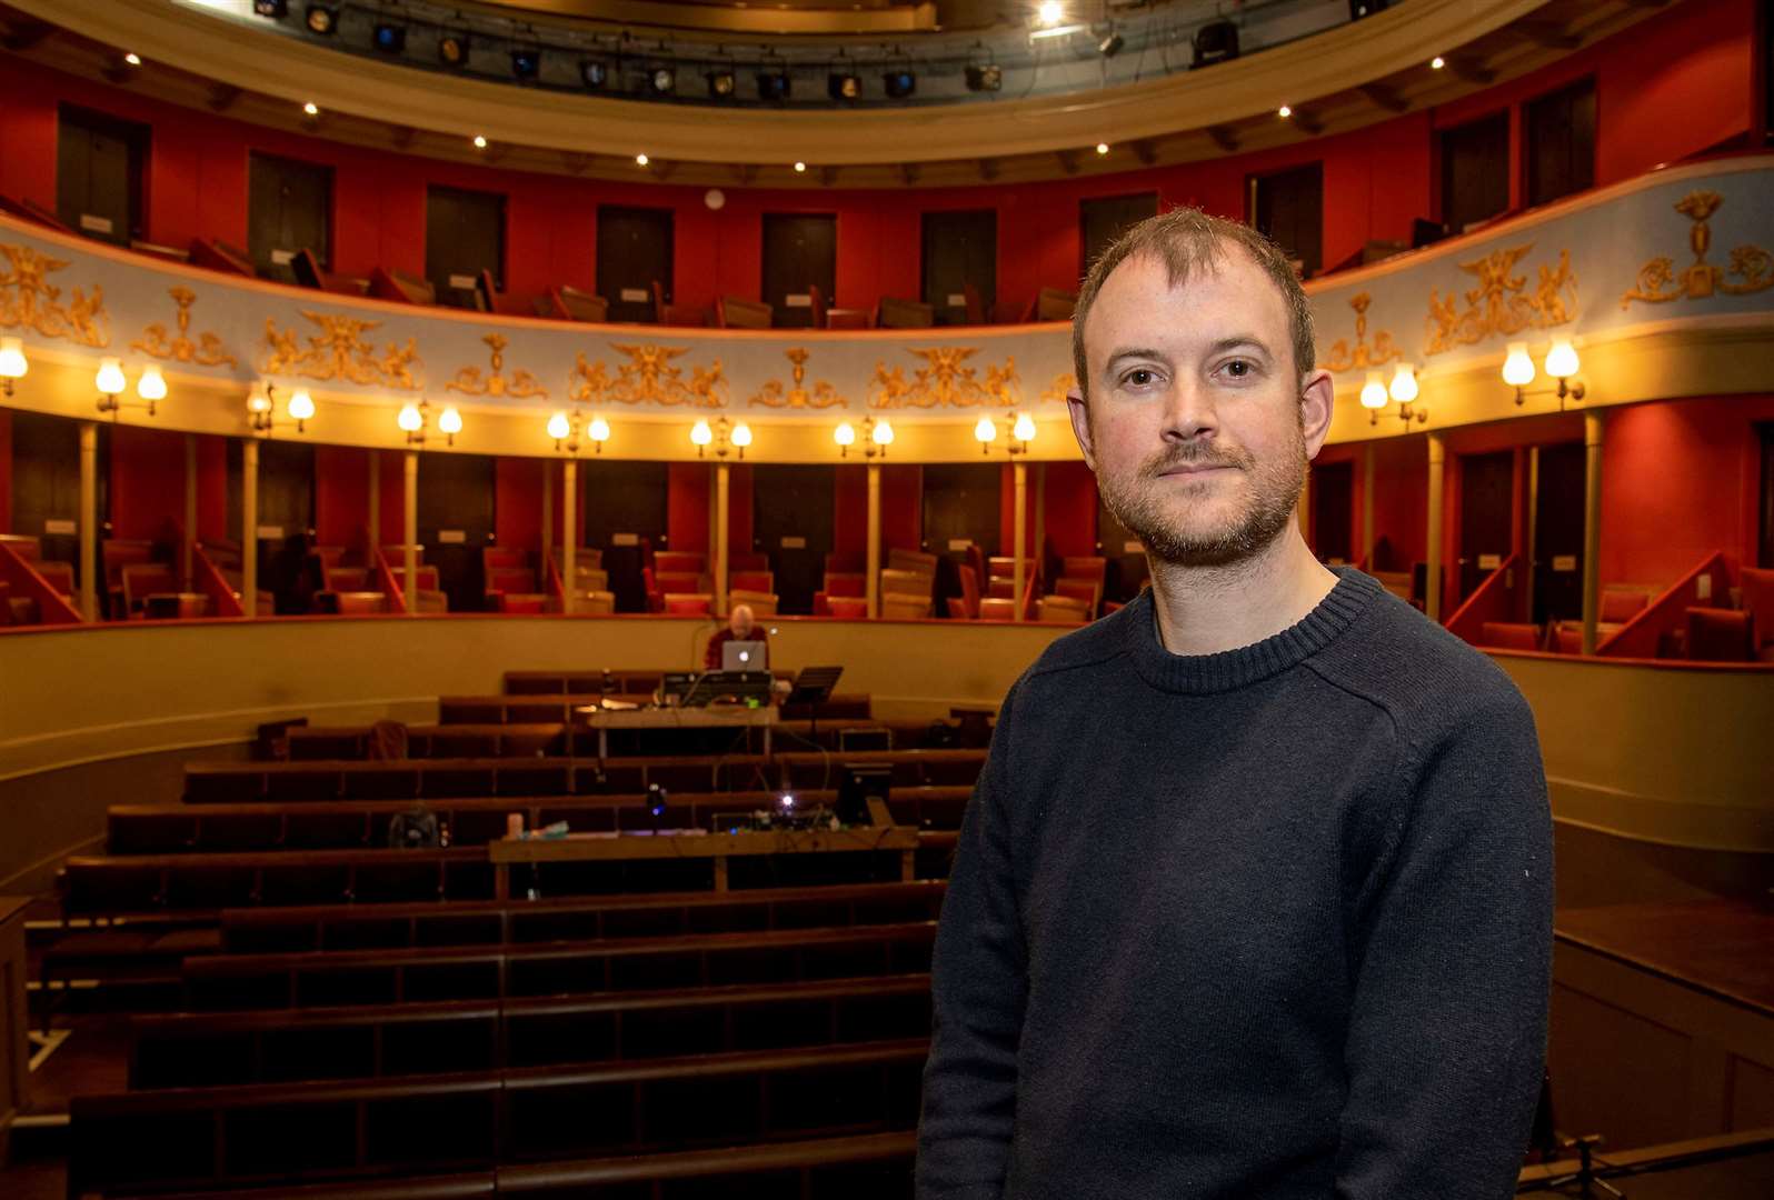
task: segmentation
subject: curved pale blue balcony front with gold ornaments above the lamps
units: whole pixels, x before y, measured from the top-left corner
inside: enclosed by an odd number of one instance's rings
[[[1499,367],[1552,337],[1582,353],[1588,404],[1774,392],[1774,156],[1712,160],[1602,188],[1480,234],[1307,287],[1338,385],[1332,441],[1398,436],[1355,404],[1368,370],[1416,363],[1432,427],[1535,415]],[[837,420],[891,417],[903,461],[977,459],[985,411],[1047,431],[1071,457],[1066,324],[873,331],[596,326],[390,305],[234,278],[0,218],[0,333],[32,362],[12,404],[92,413],[101,356],[131,379],[160,363],[156,427],[241,434],[257,379],[305,386],[309,436],[397,447],[394,413],[458,404],[458,448],[553,452],[546,417],[596,409],[605,454],[694,457],[683,427],[729,411],[757,431],[749,459],[828,461]],[[140,417],[121,417],[142,420]],[[770,429],[773,432],[766,434]],[[1417,427],[1421,429],[1421,427]]]

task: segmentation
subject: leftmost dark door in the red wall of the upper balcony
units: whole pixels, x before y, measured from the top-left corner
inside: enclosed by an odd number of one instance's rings
[[[55,214],[87,238],[128,246],[142,238],[147,126],[60,105]]]

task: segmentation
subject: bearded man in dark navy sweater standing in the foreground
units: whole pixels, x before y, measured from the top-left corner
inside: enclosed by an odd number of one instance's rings
[[[1004,698],[937,936],[917,1195],[1511,1195],[1550,966],[1526,704],[1302,541],[1332,381],[1274,245],[1141,223],[1073,356],[1151,588]]]

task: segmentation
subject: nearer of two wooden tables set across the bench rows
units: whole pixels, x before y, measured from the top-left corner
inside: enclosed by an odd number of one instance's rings
[[[850,854],[899,851],[899,877],[915,877],[912,851],[919,833],[910,826],[866,826],[855,830],[772,830],[768,833],[568,833],[557,838],[498,838],[486,856],[497,869],[500,900],[511,899],[513,863],[635,861],[646,858],[711,858],[715,892],[727,890],[727,860],[756,854]]]

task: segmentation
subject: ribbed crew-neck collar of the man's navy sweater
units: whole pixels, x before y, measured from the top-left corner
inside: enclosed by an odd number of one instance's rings
[[[1158,619],[1151,588],[1128,604],[1125,631],[1134,666],[1153,688],[1187,695],[1210,695],[1247,688],[1306,661],[1368,608],[1380,583],[1354,567],[1330,567],[1336,587],[1318,604],[1281,633],[1219,654],[1171,654],[1158,642]]]

